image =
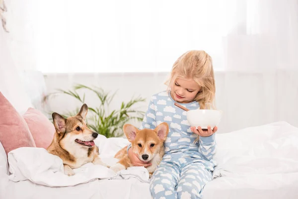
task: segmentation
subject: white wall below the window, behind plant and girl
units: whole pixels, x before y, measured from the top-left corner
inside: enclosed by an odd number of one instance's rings
[[[151,95],[166,89],[163,85],[167,73],[121,73],[121,74],[47,74],[48,92],[69,89],[74,83],[117,91],[111,109],[119,108],[122,101],[132,96],[147,98],[140,107],[147,109]],[[298,126],[298,72],[271,71],[260,73],[216,72],[217,108],[224,111],[219,132],[261,125],[275,121],[287,121]],[[90,106],[98,103],[86,95]],[[73,110],[77,101],[68,96],[49,101],[52,110]],[[139,125],[136,123],[135,125]]]

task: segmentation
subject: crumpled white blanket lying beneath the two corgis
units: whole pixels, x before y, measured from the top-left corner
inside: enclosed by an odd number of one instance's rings
[[[108,165],[115,164],[118,160],[113,155],[122,147],[127,144],[127,140],[122,138],[113,139],[98,139],[95,142],[101,142],[101,150],[105,150],[104,145],[110,147],[110,158],[102,158]],[[115,141],[118,142],[115,142]],[[117,143],[114,147],[110,141]],[[103,148],[102,148],[103,147]],[[80,168],[74,169],[74,176],[67,176],[64,172],[62,159],[58,156],[49,154],[43,148],[21,147],[10,151],[8,153],[9,163],[9,180],[14,182],[30,180],[33,183],[45,185],[49,187],[66,187],[74,186],[81,183],[87,183],[96,179],[130,179],[136,178],[137,180],[148,183],[149,173],[144,167],[133,167],[128,170],[123,170],[115,174],[111,169],[87,163]]]

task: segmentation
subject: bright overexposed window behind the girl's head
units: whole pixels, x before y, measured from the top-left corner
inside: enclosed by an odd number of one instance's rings
[[[168,72],[205,50],[223,69],[221,0],[38,1],[37,69],[45,73]]]

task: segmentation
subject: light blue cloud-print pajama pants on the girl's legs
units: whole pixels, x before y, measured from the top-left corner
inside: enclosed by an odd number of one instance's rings
[[[188,161],[189,164],[161,162],[150,180],[150,192],[154,199],[201,198],[201,190],[211,181],[212,173],[205,169],[204,163]]]

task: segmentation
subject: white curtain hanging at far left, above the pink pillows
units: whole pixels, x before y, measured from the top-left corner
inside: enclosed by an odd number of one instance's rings
[[[41,111],[46,93],[43,74],[36,71],[35,0],[0,0],[0,92],[19,113],[29,106]],[[4,6],[4,4],[6,6]],[[4,9],[6,7],[6,9]]]

